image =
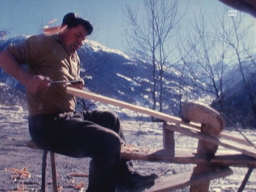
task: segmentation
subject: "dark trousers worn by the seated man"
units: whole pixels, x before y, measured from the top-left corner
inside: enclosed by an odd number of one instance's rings
[[[32,116],[29,132],[43,149],[92,158],[88,192],[115,192],[119,174],[134,171],[131,161],[121,160],[125,139],[115,113],[95,110]]]

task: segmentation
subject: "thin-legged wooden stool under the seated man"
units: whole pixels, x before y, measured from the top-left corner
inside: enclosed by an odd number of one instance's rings
[[[32,149],[41,149],[39,148],[33,140],[27,142],[27,146]],[[42,149],[41,149],[42,150]],[[46,173],[46,164],[47,164],[47,150],[44,150],[43,154],[43,163],[42,163],[42,186],[41,191],[45,192],[45,173]],[[55,164],[55,153],[50,152],[51,154],[51,164],[52,164],[52,185],[53,192],[58,192],[57,185],[57,174],[56,174],[56,164]]]

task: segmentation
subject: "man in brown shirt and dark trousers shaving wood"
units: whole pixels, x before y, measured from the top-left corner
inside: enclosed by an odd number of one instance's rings
[[[93,27],[75,13],[68,13],[62,28],[52,36],[31,36],[0,54],[0,67],[26,87],[32,139],[39,147],[56,153],[91,157],[87,192],[145,189],[157,176],[141,176],[130,160],[121,160],[125,140],[118,116],[97,110],[76,112],[76,98],[66,93],[67,84],[51,83],[79,79],[80,84],[69,86],[84,87],[76,50]],[[28,64],[28,71],[20,67],[22,63]]]

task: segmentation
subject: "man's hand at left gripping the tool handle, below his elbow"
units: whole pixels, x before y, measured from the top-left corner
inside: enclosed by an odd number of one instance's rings
[[[51,79],[49,77],[36,75],[29,78],[28,82],[25,84],[25,87],[31,94],[36,94],[38,92],[47,90],[47,88],[50,86],[50,82]]]

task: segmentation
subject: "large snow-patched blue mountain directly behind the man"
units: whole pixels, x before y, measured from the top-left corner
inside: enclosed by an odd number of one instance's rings
[[[0,50],[26,38],[27,36],[16,36],[1,41]],[[78,50],[78,55],[82,65],[81,77],[89,90],[133,104],[151,106],[151,65],[90,40]],[[24,86],[6,75],[2,69],[0,74],[1,82],[24,91]],[[173,92],[173,87],[177,86],[176,78],[172,71],[165,73],[166,87],[169,87],[166,89],[166,95],[171,99],[176,98],[176,92]]]

